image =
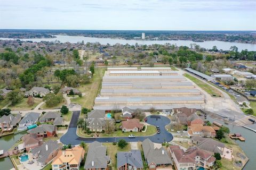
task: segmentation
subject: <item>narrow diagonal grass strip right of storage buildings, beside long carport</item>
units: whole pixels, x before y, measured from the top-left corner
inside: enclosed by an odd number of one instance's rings
[[[200,88],[202,88],[204,91],[206,91],[208,94],[210,94],[213,97],[222,97],[221,92],[219,92],[217,89],[214,89],[209,84],[193,77],[192,75],[189,75],[187,73],[183,74],[186,78],[190,79],[194,83],[197,84]]]

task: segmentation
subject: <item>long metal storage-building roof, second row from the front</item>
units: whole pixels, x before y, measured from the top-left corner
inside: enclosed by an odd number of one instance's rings
[[[113,94],[135,94],[135,93],[198,93],[197,89],[101,89],[102,93],[113,93]]]

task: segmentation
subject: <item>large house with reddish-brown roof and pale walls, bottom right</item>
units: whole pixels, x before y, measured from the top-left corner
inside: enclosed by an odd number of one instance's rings
[[[168,151],[177,169],[196,169],[196,165],[206,168],[213,166],[215,162],[211,154],[197,147],[184,151],[180,146],[169,146]]]

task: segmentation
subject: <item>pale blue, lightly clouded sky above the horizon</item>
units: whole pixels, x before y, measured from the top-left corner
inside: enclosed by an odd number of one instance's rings
[[[256,0],[0,0],[0,29],[256,30]]]

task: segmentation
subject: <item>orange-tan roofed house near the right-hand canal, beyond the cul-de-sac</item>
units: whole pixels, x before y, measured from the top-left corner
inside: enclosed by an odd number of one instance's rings
[[[211,126],[203,126],[202,124],[192,124],[188,126],[188,135],[199,137],[214,138],[216,135],[215,130]]]

